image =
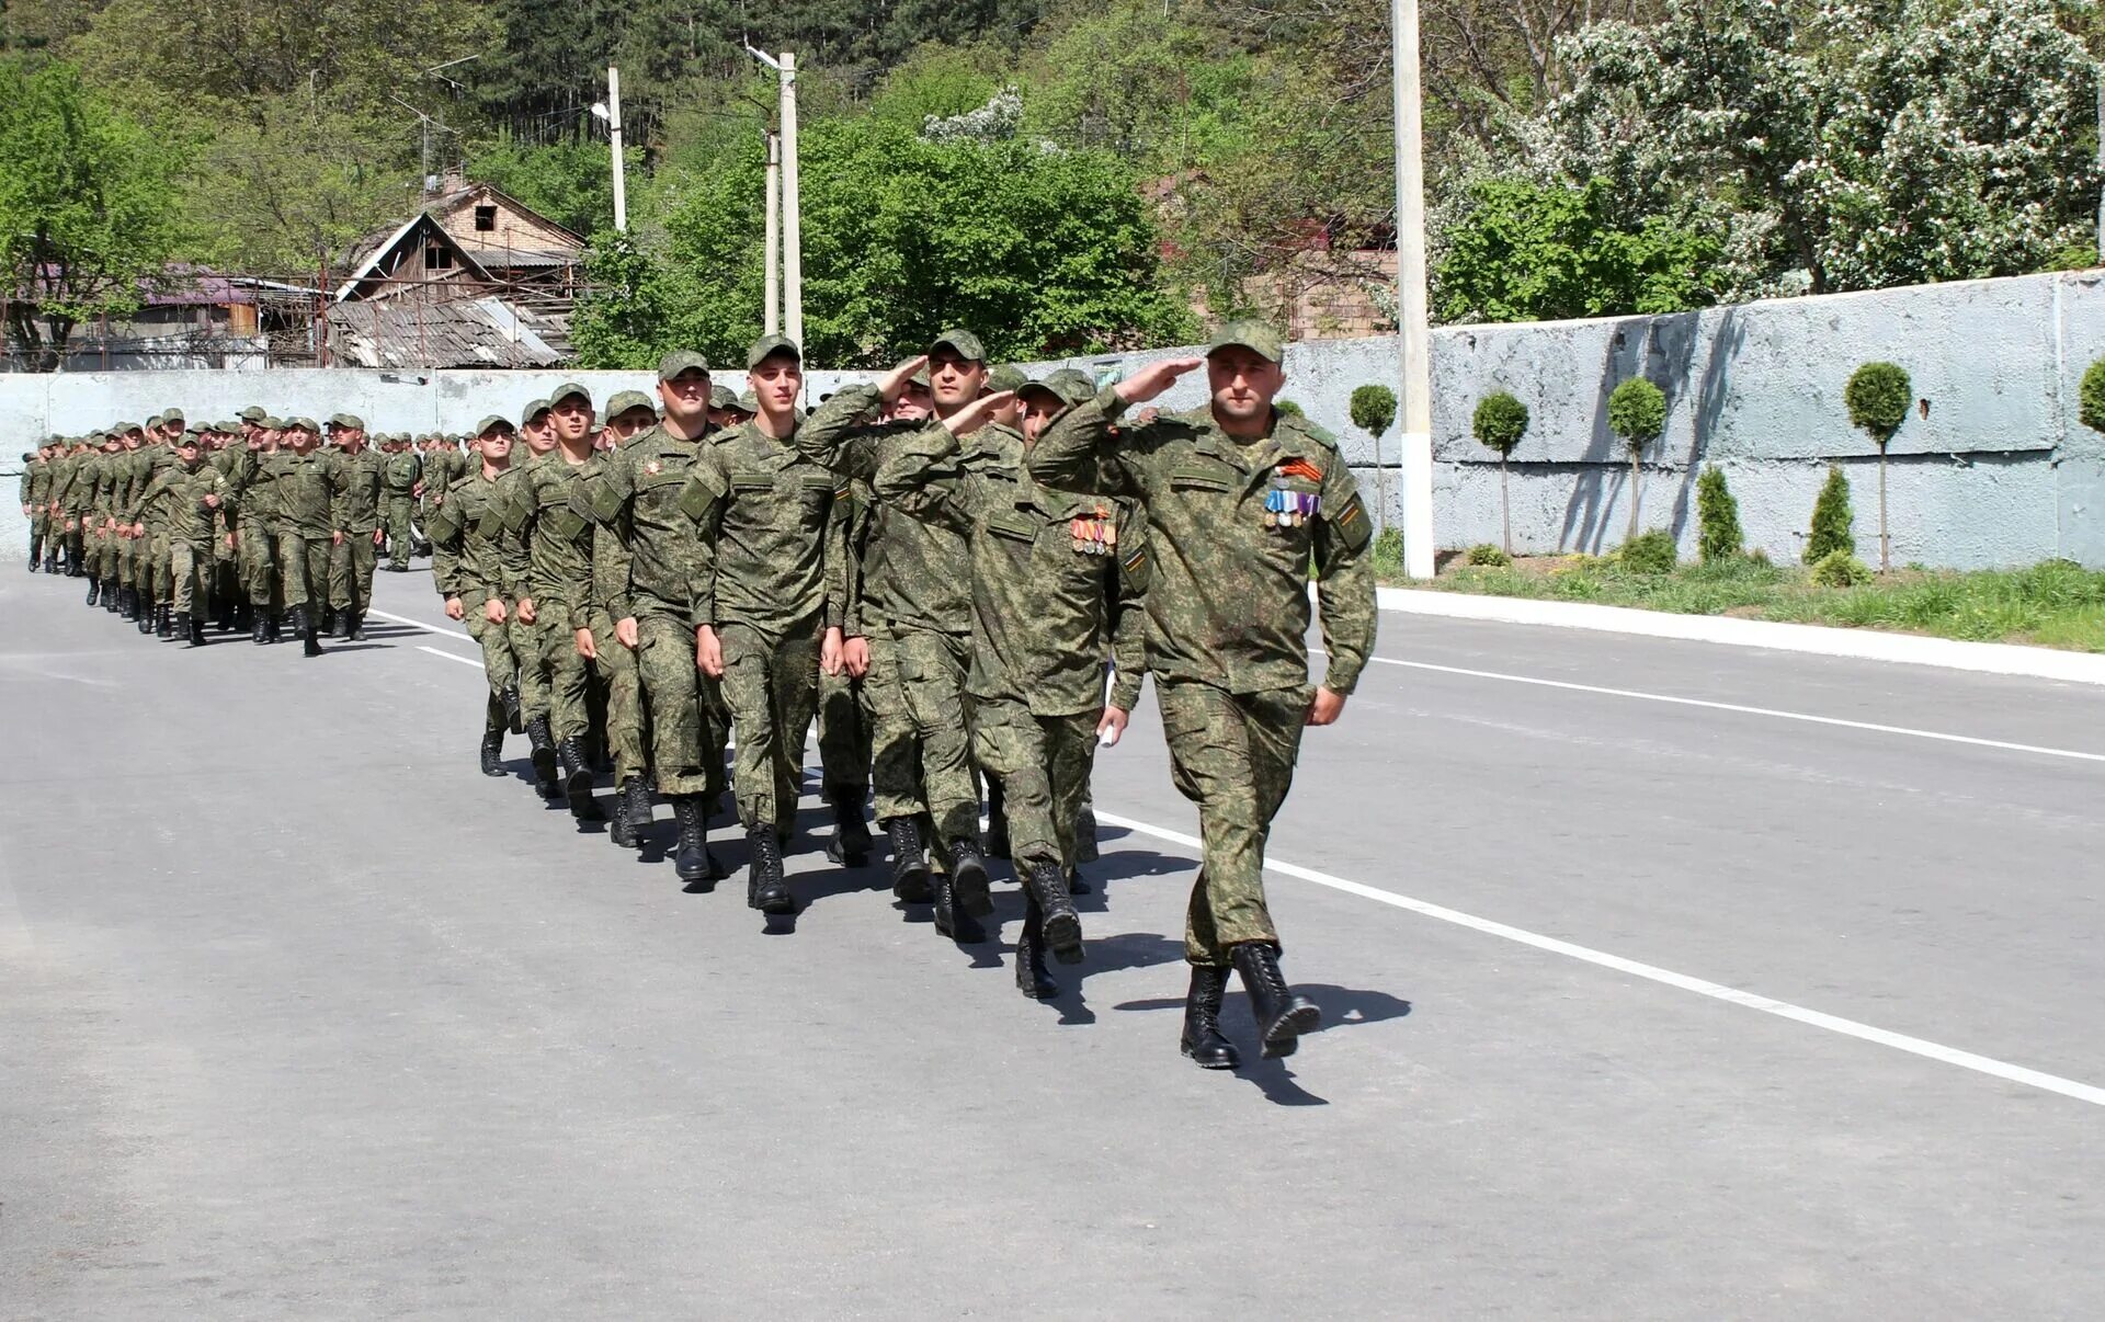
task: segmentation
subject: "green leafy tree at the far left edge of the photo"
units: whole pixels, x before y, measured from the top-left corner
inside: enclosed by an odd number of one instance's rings
[[[67,63],[0,59],[0,259],[6,330],[55,370],[74,326],[139,307],[175,248],[175,154]]]

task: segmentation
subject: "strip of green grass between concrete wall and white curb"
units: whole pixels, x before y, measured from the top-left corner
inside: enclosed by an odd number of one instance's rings
[[[1385,539],[1375,545],[1375,570],[1402,587],[2105,653],[2105,573],[2069,560],[2017,570],[1909,568],[1861,587],[1815,587],[1800,568],[1749,558],[1640,575],[1615,560],[1564,556],[1513,568],[1457,564],[1434,581],[1412,581],[1402,575],[1402,547]]]

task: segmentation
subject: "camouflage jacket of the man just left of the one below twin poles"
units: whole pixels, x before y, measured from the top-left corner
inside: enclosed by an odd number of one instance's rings
[[[619,549],[594,554],[592,585],[594,600],[615,621],[669,615],[688,627],[711,623],[695,610],[701,537],[680,507],[703,444],[655,425],[619,450],[604,450],[577,484],[570,507],[619,541]]]

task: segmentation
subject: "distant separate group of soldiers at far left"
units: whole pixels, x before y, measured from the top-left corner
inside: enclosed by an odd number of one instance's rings
[[[419,482],[408,438],[368,450],[354,415],[324,429],[246,408],[189,427],[171,408],[23,455],[29,568],[88,579],[86,604],[141,634],[204,646],[208,625],[259,644],[290,632],[314,657],[324,634],[364,636],[389,537],[408,568]]]

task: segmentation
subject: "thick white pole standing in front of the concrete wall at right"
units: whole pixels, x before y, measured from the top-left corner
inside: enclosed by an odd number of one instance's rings
[[[1396,320],[1402,352],[1404,573],[1434,577],[1434,362],[1425,305],[1425,105],[1419,0],[1389,0],[1396,76]]]

